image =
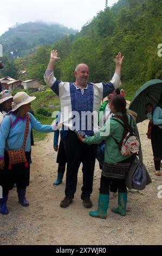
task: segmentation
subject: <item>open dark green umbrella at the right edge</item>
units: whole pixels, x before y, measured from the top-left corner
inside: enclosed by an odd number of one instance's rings
[[[137,113],[137,123],[147,119],[145,111],[146,103],[152,103],[153,107],[158,105],[162,93],[162,80],[153,79],[143,84],[134,94],[129,109]]]

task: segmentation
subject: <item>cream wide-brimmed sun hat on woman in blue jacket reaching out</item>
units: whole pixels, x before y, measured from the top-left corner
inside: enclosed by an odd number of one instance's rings
[[[16,93],[15,96],[13,97],[11,111],[15,111],[17,108],[21,107],[22,105],[28,104],[35,99],[36,97],[29,96],[25,92]]]

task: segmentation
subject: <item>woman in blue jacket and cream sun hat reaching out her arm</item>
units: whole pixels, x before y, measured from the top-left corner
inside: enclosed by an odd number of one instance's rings
[[[25,192],[30,178],[31,128],[40,132],[53,132],[55,129],[54,125],[42,125],[29,113],[30,102],[35,99],[36,97],[30,97],[25,92],[17,93],[13,98],[12,111],[5,116],[0,127],[0,185],[3,188],[3,198],[0,198],[1,214],[9,213],[6,204],[9,190],[12,190],[14,184],[17,186],[20,204],[29,206]],[[23,149],[23,146],[25,161],[13,164],[9,159],[8,150],[17,152],[18,149]],[[16,157],[14,160],[17,160]]]

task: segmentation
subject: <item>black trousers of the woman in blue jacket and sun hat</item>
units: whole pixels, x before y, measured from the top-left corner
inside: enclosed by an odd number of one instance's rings
[[[3,188],[3,196],[12,190],[14,184],[18,189],[24,189],[29,186],[30,180],[30,152],[25,152],[28,167],[24,163],[12,164],[9,169],[9,157],[7,151],[4,153],[4,168],[0,170],[0,185]]]

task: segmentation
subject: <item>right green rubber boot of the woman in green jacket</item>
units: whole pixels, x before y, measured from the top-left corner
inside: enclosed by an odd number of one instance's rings
[[[126,215],[127,206],[127,193],[118,193],[118,208],[112,208],[113,212],[120,214],[121,216]]]

